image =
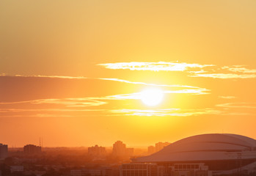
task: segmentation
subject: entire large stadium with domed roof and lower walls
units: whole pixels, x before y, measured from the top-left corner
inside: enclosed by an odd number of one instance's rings
[[[224,133],[191,136],[122,164],[120,176],[131,175],[256,175],[256,140]]]

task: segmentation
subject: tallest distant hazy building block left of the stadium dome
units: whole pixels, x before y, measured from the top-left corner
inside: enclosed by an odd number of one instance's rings
[[[134,155],[134,148],[126,148],[126,145],[121,141],[117,141],[113,144],[112,155],[120,157],[128,157]]]

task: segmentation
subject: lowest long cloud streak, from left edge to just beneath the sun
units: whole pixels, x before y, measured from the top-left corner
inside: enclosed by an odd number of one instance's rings
[[[80,111],[83,114],[68,114],[73,111]],[[188,117],[202,114],[221,114],[222,112],[215,109],[0,109],[0,117],[87,117],[89,111],[98,111],[102,116],[147,117]],[[29,112],[29,114],[24,115],[23,112]],[[65,112],[65,114],[59,114],[59,112]],[[97,114],[89,114],[89,116],[97,116]]]

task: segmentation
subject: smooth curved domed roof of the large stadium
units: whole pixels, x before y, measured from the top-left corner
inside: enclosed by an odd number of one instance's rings
[[[158,153],[133,162],[223,161],[256,158],[256,140],[246,136],[211,133],[191,136],[169,144]]]

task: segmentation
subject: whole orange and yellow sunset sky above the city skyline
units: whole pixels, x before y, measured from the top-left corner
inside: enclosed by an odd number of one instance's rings
[[[1,0],[0,143],[256,139],[255,46],[255,0]]]

